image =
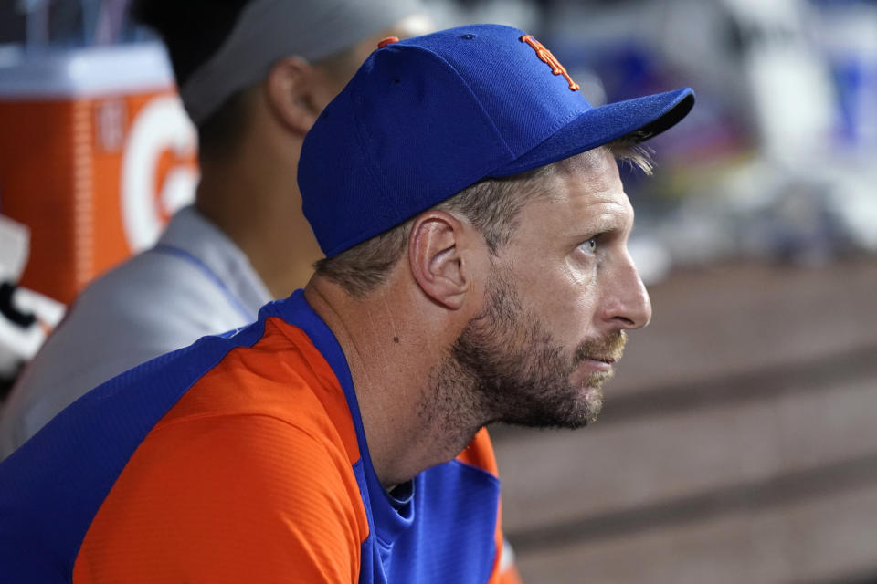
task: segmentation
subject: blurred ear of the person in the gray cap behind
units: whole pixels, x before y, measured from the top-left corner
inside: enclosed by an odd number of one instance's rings
[[[301,136],[311,130],[321,108],[313,99],[317,83],[314,69],[300,57],[284,57],[266,79],[269,109],[280,122]]]

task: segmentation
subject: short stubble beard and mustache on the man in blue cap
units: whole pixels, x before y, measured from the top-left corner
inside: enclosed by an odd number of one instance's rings
[[[429,376],[422,421],[463,446],[481,426],[507,422],[530,427],[579,428],[597,420],[602,385],[611,371],[572,381],[583,360],[618,360],[623,331],[591,339],[565,355],[549,328],[530,310],[512,278],[495,269],[487,303]],[[449,447],[451,444],[449,444]]]

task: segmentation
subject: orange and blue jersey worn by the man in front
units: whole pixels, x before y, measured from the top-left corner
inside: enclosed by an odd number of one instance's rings
[[[3,582],[500,582],[482,430],[388,494],[301,291],[74,402],[0,463]]]

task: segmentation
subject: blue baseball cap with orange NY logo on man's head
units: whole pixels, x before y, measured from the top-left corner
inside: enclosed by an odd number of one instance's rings
[[[598,108],[532,36],[470,25],[375,50],[305,136],[302,209],[327,256],[482,179],[510,176],[692,109],[692,89]]]

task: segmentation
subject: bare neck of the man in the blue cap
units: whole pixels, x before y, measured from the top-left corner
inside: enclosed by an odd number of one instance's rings
[[[423,330],[437,330],[423,326],[434,316],[425,314],[429,308],[380,292],[357,301],[319,276],[305,288],[305,297],[347,358],[381,483],[387,488],[404,483],[460,454],[481,424],[472,415],[469,421],[447,415],[433,387],[433,372],[455,332],[424,335]]]

